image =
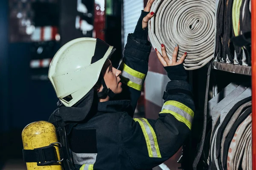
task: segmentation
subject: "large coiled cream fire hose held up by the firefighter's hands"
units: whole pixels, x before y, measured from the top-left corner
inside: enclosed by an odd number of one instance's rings
[[[155,0],[148,23],[151,44],[162,54],[161,44],[172,59],[179,45],[177,59],[187,52],[186,70],[206,65],[214,53],[215,0]]]

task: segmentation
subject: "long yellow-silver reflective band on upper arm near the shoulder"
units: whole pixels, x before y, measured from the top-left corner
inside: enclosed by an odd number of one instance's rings
[[[151,158],[161,158],[156,133],[148,120],[145,118],[135,118],[134,121],[139,122],[143,131],[148,148],[148,156]]]

